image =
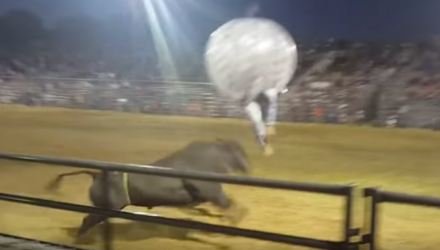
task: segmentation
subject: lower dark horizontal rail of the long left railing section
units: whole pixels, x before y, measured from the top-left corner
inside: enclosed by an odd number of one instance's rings
[[[105,215],[109,218],[122,218],[126,220],[137,220],[141,222],[151,222],[172,227],[183,227],[192,230],[203,230],[208,232],[216,232],[231,236],[247,237],[252,239],[260,239],[270,242],[279,242],[285,244],[294,244],[298,246],[313,247],[318,249],[338,250],[344,242],[331,242],[318,239],[309,239],[303,237],[294,237],[285,234],[275,234],[270,232],[262,232],[257,230],[245,230],[236,227],[226,227],[221,225],[212,225],[203,222],[195,222],[190,220],[180,220],[172,218],[163,218],[151,215],[139,215],[127,213],[117,210],[107,210],[103,208],[95,208],[91,206],[83,206],[72,203],[64,203],[59,201],[50,201],[42,198],[31,198],[27,196],[18,196],[14,194],[0,193],[1,201],[10,201],[14,203],[28,204],[31,206],[40,206],[45,208],[54,208],[59,210],[67,210],[78,213],[91,213]]]

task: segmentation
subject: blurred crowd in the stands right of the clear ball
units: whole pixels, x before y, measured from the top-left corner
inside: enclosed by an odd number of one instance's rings
[[[328,42],[304,49],[301,89],[286,97],[294,100],[288,113],[297,121],[438,129],[439,52],[433,42]],[[318,68],[310,71],[313,65]]]

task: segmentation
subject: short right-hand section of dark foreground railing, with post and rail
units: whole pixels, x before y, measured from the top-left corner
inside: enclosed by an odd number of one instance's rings
[[[369,250],[376,250],[377,227],[378,227],[378,204],[379,203],[400,203],[412,206],[426,206],[440,208],[440,198],[429,196],[415,196],[410,194],[382,191],[375,188],[364,189],[364,197],[367,198],[365,211],[368,223],[364,227],[362,243],[368,246]]]

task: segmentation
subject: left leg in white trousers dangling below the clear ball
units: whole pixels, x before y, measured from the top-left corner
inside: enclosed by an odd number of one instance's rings
[[[265,155],[271,155],[273,153],[273,150],[267,141],[266,128],[265,123],[262,119],[260,105],[258,105],[257,102],[250,102],[248,105],[245,106],[245,112],[248,115],[250,121],[253,123],[257,140],[262,148],[264,148]]]

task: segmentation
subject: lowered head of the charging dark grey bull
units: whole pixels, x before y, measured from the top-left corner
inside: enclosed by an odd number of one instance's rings
[[[216,139],[217,143],[224,150],[224,160],[228,171],[250,174],[250,163],[248,155],[240,143],[233,140]]]

